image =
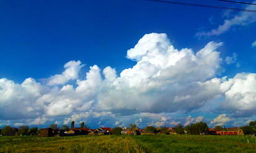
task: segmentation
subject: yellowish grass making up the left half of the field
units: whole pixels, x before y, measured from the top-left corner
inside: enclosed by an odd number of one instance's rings
[[[0,152],[144,152],[135,139],[129,136],[2,136],[0,143]]]

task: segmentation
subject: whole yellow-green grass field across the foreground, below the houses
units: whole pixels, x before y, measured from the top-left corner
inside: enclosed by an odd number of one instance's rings
[[[0,136],[0,152],[256,152],[252,136]]]

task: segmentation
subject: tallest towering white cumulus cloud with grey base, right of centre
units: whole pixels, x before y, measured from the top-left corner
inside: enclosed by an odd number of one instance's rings
[[[195,54],[175,49],[166,34],[144,35],[127,52],[137,64],[104,86],[99,108],[159,113],[200,107],[219,94],[220,80],[213,77],[221,62],[215,49],[221,45],[210,42]]]

